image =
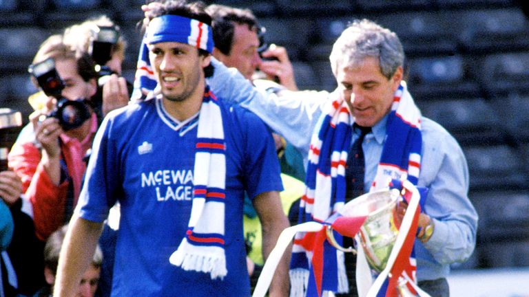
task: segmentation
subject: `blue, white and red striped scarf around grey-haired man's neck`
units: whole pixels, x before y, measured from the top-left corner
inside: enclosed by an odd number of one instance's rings
[[[401,83],[395,92],[386,123],[386,140],[371,190],[387,188],[391,179],[408,179],[417,185],[422,135],[421,114],[413,98]],[[352,140],[353,116],[342,98],[329,101],[318,129],[311,139],[307,165],[306,190],[300,202],[300,221],[324,223],[345,203],[345,166]],[[291,256],[291,296],[318,296],[323,291],[348,291],[343,252],[323,241],[325,271],[322,287],[315,285],[313,254],[307,241],[314,234],[295,235]],[[338,243],[342,237],[337,236]]]

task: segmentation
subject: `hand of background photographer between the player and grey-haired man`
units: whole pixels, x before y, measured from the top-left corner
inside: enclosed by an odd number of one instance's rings
[[[264,58],[275,57],[277,61],[262,61],[259,69],[267,74],[268,78],[273,80],[274,76],[279,78],[279,83],[290,91],[298,91],[298,85],[295,84],[294,71],[290,62],[287,50],[284,47],[278,47],[271,44],[268,50],[262,52]]]

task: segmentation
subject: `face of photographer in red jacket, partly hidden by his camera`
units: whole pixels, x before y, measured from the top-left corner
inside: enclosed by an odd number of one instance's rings
[[[77,72],[77,63],[74,59],[56,59],[55,69],[65,83],[62,95],[68,100],[90,98],[96,93],[95,80],[85,82]]]

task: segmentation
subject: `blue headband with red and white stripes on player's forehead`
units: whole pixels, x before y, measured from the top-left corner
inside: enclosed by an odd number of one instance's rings
[[[213,52],[213,33],[206,23],[175,14],[156,17],[147,26],[145,43],[178,42]]]

